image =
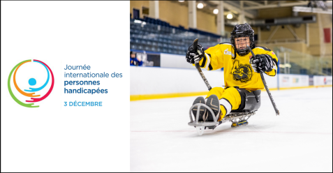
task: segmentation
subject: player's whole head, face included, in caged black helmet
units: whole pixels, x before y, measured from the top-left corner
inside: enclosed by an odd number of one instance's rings
[[[251,49],[256,47],[254,45],[254,31],[249,24],[236,24],[230,36],[231,45],[234,47],[235,52],[240,56],[249,54],[250,50],[246,47],[249,45]]]

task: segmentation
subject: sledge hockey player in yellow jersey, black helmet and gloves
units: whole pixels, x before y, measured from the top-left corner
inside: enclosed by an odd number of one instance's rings
[[[198,44],[198,50],[193,45],[188,47],[186,61],[199,63],[206,70],[224,68],[224,88],[212,88],[206,98],[198,97],[196,103],[205,103],[221,121],[232,110],[243,110],[245,105],[251,105],[251,110],[260,107],[260,91],[264,89],[260,72],[275,76],[278,57],[266,47],[256,47],[254,31],[249,24],[237,24],[231,32],[230,43],[220,43],[203,50]],[[253,57],[246,45],[256,54]],[[251,60],[251,61],[250,61]],[[253,99],[246,99],[246,95],[253,95]],[[192,110],[197,113],[196,107]],[[199,121],[214,121],[212,114],[205,107],[200,108]],[[219,116],[218,116],[219,115]]]

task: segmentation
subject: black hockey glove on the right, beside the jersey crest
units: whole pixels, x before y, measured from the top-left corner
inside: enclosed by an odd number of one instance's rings
[[[257,54],[256,57],[251,57],[250,63],[256,73],[270,72],[274,68],[273,59],[269,54]]]

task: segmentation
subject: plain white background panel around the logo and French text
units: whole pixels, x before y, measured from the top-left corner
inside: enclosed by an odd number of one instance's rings
[[[114,123],[129,114],[129,3],[1,1],[1,172],[129,171],[129,123]],[[54,89],[38,108],[18,105],[8,92],[10,70],[27,59],[43,61],[54,73]],[[66,64],[91,70],[64,70]],[[45,81],[45,69],[33,66],[17,71],[20,88],[29,87],[29,77]],[[64,78],[65,71],[123,77]],[[100,86],[68,88],[109,92],[65,94],[64,80],[100,80]],[[64,101],[103,106],[64,107]]]

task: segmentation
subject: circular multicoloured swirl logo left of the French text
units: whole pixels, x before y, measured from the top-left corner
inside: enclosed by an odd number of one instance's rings
[[[26,63],[38,63],[38,64],[41,64],[42,66],[44,66],[44,68],[46,69],[46,72],[47,72],[47,80],[40,87],[32,88],[32,86],[36,85],[37,81],[36,81],[35,78],[30,78],[28,83],[31,87],[29,87],[29,89],[24,89],[24,91],[22,91],[22,89],[20,89],[17,85],[16,73],[17,73],[17,70],[22,65],[24,65]],[[26,73],[29,73],[29,71],[27,71]],[[10,80],[12,78],[12,75],[13,75],[13,83],[14,83],[15,89],[19,93],[21,93],[23,96],[31,97],[31,100],[25,100],[26,103],[23,103],[22,101],[17,99],[17,97],[14,96],[14,93],[12,91],[12,87],[10,87]],[[50,75],[51,75],[51,78],[52,78],[52,83],[51,83],[50,89],[47,91],[47,93],[45,93],[44,96],[37,95],[36,92],[41,91],[42,89],[44,89],[47,86],[47,83],[50,82]],[[24,107],[39,107],[38,105],[34,105],[34,103],[40,102],[41,100],[44,100],[45,98],[47,98],[47,96],[50,95],[50,93],[53,89],[53,86],[54,86],[54,76],[53,76],[51,68],[49,66],[47,66],[45,63],[43,63],[42,61],[38,61],[36,59],[26,60],[26,61],[22,61],[20,63],[17,63],[17,65],[13,68],[13,70],[10,71],[10,74],[8,76],[8,91],[10,93],[10,96],[12,96],[13,100],[15,100],[16,103],[18,103],[19,105],[22,105]]]

